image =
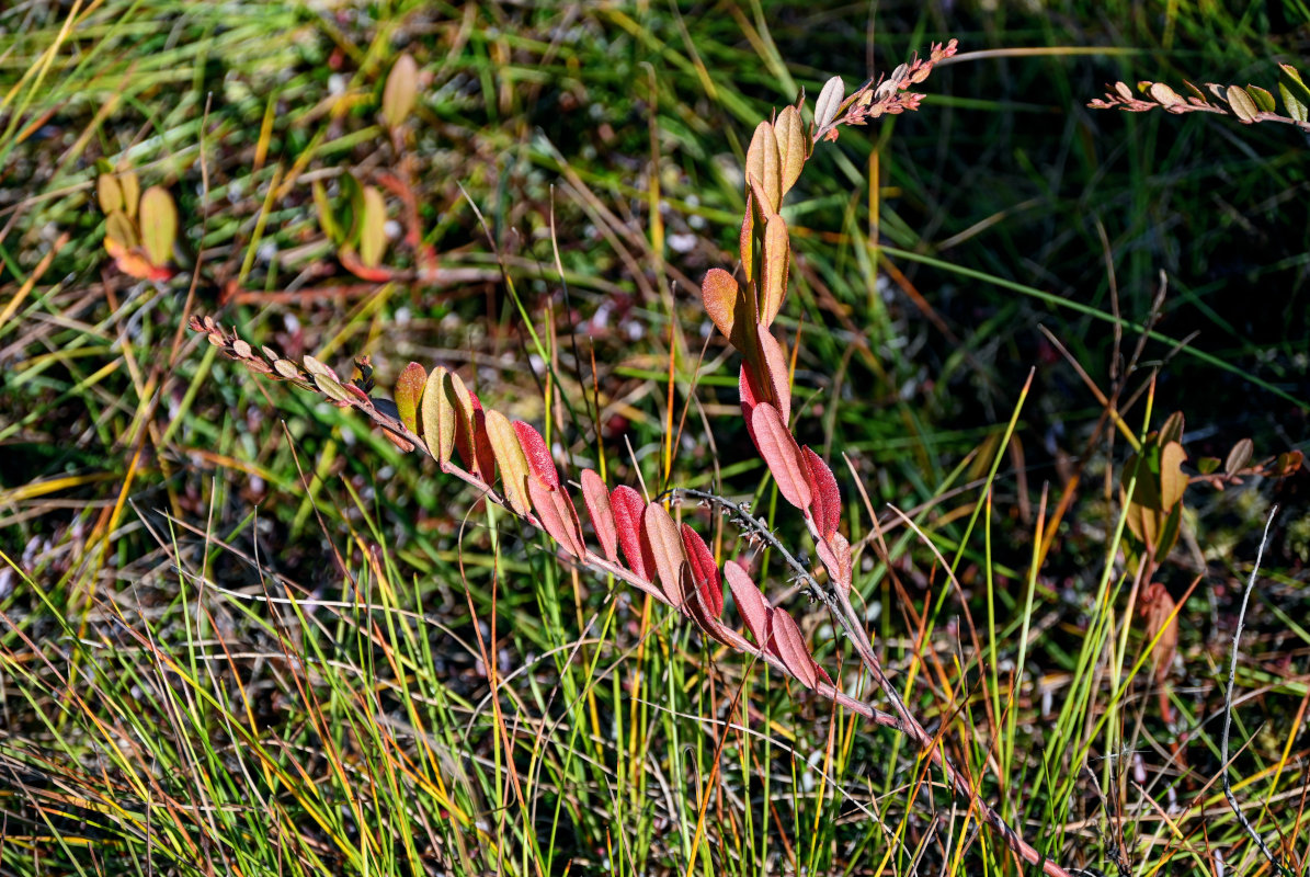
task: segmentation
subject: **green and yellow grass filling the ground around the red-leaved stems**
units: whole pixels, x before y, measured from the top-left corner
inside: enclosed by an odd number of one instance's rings
[[[1306,447],[1305,143],[1085,107],[1116,79],[1272,87],[1310,22],[1275,7],[0,12],[0,874],[1018,873],[908,741],[570,570],[182,328],[369,354],[383,388],[411,359],[457,367],[516,417],[549,412],[575,469],[751,497],[795,539],[740,429],[735,355],[715,338],[701,359],[696,290],[732,265],[758,119],[950,37],[1045,51],[934,72],[918,113],[821,148],[786,211],[796,429],[867,539],[875,642],[1066,867],[1269,873],[1217,777],[1276,501],[1227,770],[1305,857],[1306,476],[1188,489],[1157,581],[1199,585],[1162,686],[1116,560],[1129,442],[1039,329],[1110,392],[1149,325],[1124,399],[1153,391],[1119,409],[1134,440],[1182,410],[1189,464],[1243,437],[1260,459]],[[431,81],[398,151],[377,110],[400,51]],[[97,163],[169,187],[172,282],[113,267]],[[341,267],[312,184],[347,170],[410,181],[436,283]],[[394,243],[386,260],[414,267]],[[684,515],[739,551],[726,520]],[[768,569],[867,693],[821,607]]]

